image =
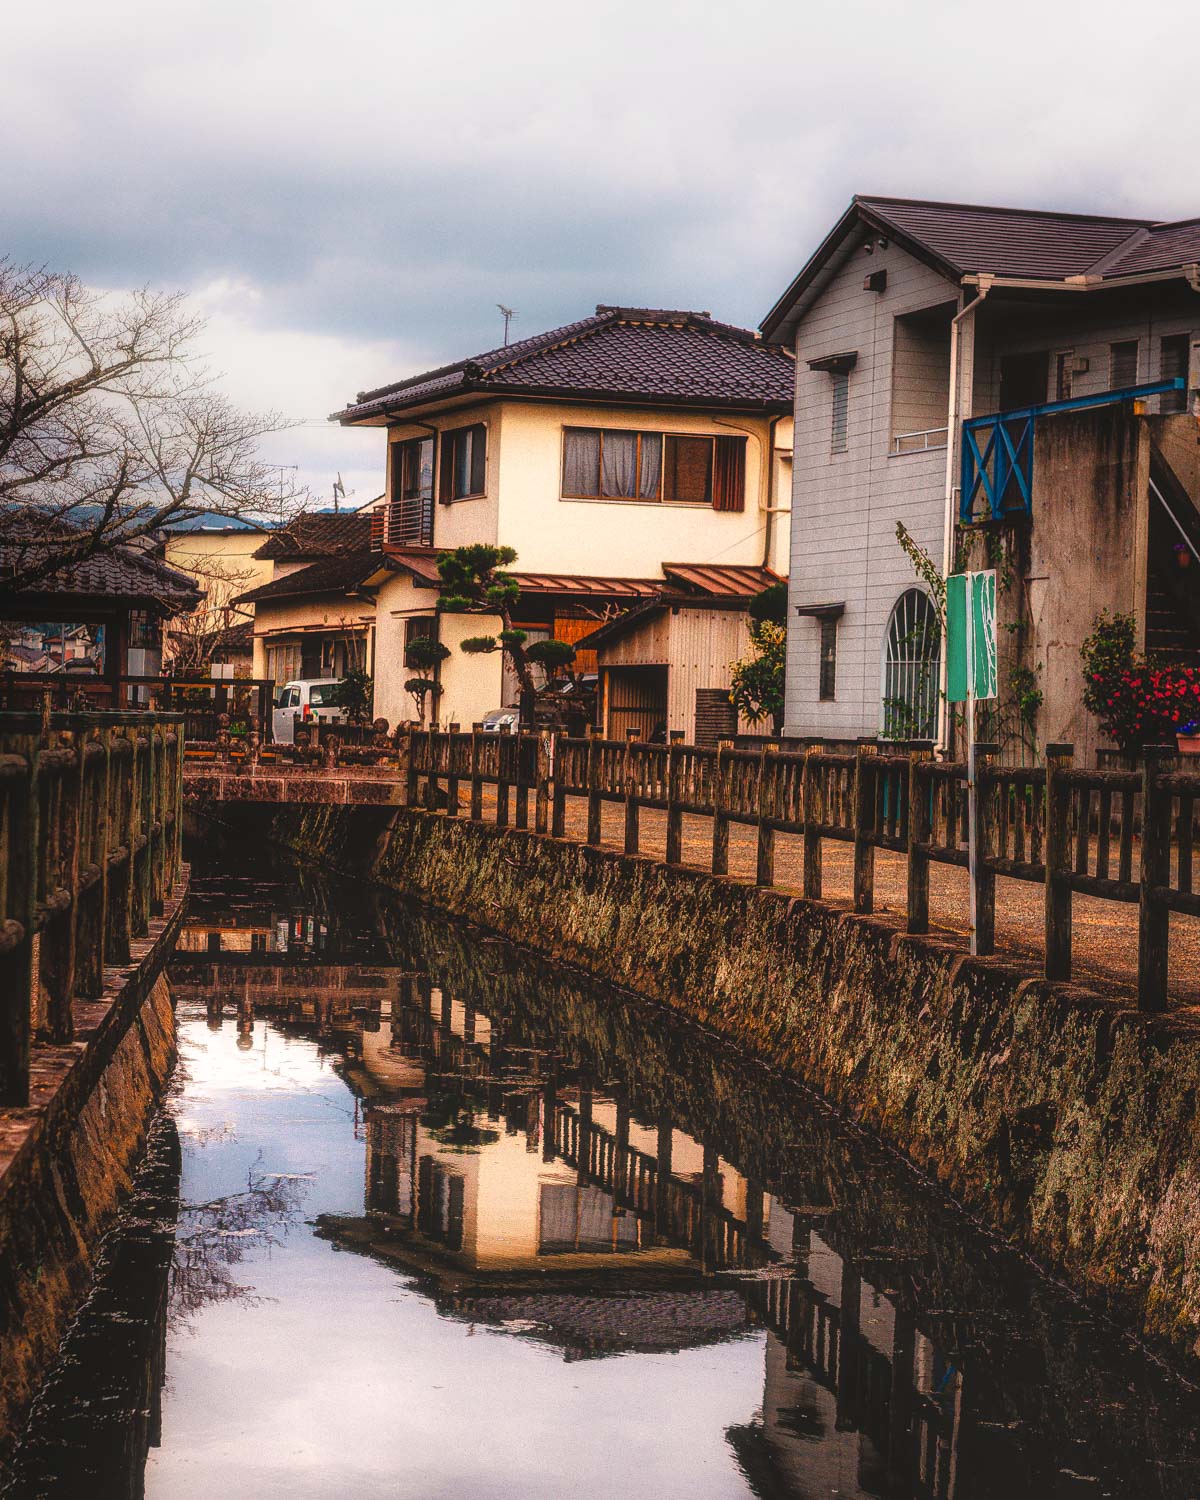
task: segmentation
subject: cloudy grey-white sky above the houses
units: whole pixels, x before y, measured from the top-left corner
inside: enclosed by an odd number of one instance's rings
[[[591,314],[756,327],[852,194],[1200,213],[1200,12],[1096,0],[4,8],[0,254],[183,290],[315,502],[360,390]]]

